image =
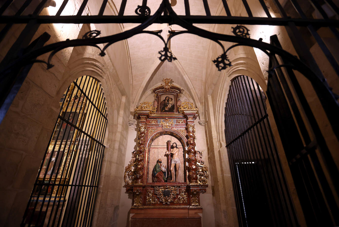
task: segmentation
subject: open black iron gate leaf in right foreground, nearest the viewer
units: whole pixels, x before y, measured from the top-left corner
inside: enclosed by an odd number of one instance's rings
[[[271,43],[280,46],[276,36],[271,37]],[[270,64],[278,61],[284,64],[276,57]],[[307,226],[338,226],[338,167],[292,69],[271,71],[267,98]]]

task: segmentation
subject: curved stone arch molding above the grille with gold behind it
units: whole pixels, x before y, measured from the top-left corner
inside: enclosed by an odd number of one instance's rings
[[[103,91],[105,92],[106,105],[108,108],[106,134],[107,132],[114,132],[114,126],[117,125],[118,121],[118,111],[120,106],[116,103],[117,100],[114,89],[117,89],[116,84],[111,80],[108,70],[106,67],[98,60],[92,58],[81,58],[76,61],[69,63],[65,69],[63,75],[63,81],[57,91],[55,96],[55,101],[59,105],[60,97],[63,95],[67,87],[75,81],[77,78],[88,75],[95,77],[102,85]],[[58,107],[60,109],[60,106]],[[105,144],[109,144],[110,140],[113,138],[107,137]]]

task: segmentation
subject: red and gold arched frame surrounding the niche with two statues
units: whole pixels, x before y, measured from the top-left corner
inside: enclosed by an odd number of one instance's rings
[[[147,143],[146,143],[146,169],[147,169],[147,173],[145,174],[146,179],[145,182],[147,182],[146,184],[152,183],[152,180],[149,179],[149,172],[152,171],[154,164],[155,163],[149,163],[150,160],[150,148],[152,145],[152,142],[155,141],[157,138],[159,138],[160,136],[163,135],[170,135],[173,136],[174,138],[176,138],[182,145],[182,149],[183,149],[183,163],[180,163],[180,169],[179,171],[183,171],[183,182],[187,182],[187,169],[186,169],[186,158],[187,158],[187,145],[186,145],[186,139],[185,137],[178,131],[176,130],[171,130],[171,129],[163,129],[160,131],[155,132],[153,135],[149,136]],[[162,157],[161,158],[163,161],[162,163],[166,164],[166,158]],[[181,169],[183,168],[183,169]]]

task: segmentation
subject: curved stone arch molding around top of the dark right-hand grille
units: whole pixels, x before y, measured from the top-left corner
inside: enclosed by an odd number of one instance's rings
[[[228,91],[233,78],[245,75],[255,80],[259,86],[263,89],[266,95],[267,84],[264,80],[264,76],[257,62],[251,58],[239,57],[233,60],[234,65],[230,67],[227,72],[222,74],[220,86],[218,89],[217,106],[215,115],[215,128],[217,131],[217,139],[220,147],[224,147],[225,136],[224,136],[224,108],[228,95]],[[268,103],[266,105],[269,105]]]

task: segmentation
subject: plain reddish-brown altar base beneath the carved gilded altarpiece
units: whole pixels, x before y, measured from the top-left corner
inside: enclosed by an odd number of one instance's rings
[[[131,227],[201,227],[202,209],[131,209]]]

